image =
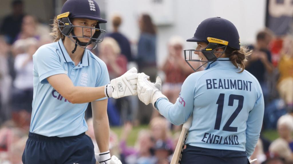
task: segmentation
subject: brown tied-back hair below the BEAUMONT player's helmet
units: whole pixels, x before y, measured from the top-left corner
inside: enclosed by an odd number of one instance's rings
[[[240,50],[236,50],[232,47],[227,46],[225,50],[225,56],[229,57],[233,65],[236,68],[241,69],[241,73],[245,69],[245,62],[247,61],[247,57],[252,53],[252,50],[249,50],[246,46],[241,46]]]

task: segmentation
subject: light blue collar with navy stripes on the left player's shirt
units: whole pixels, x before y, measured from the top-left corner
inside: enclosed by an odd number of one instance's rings
[[[64,47],[64,44],[63,44],[63,42],[62,42],[61,39],[58,41],[58,47],[61,50],[61,54],[62,54],[62,56],[64,58],[64,60],[63,60],[64,63],[66,63],[66,62],[73,62],[71,60],[70,56],[68,55],[68,53],[67,53],[67,51],[66,51],[66,49]],[[82,59],[80,61],[81,67],[84,67],[84,66],[88,66],[89,65],[89,52],[88,51],[89,50],[86,50],[86,49],[84,50],[84,55],[82,56]]]

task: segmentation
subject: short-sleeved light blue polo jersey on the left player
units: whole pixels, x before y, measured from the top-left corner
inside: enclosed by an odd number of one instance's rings
[[[89,50],[78,65],[69,57],[61,40],[41,46],[33,55],[33,111],[30,132],[44,136],[76,136],[88,130],[84,112],[88,103],[72,104],[47,81],[67,74],[74,86],[99,87],[110,82],[106,64]],[[104,100],[106,97],[99,99]]]

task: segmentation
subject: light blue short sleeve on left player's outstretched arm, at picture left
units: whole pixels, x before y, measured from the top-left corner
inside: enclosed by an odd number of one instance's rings
[[[33,55],[33,63],[38,73],[40,83],[48,83],[47,77],[56,74],[66,74],[59,55],[49,47],[40,47]]]

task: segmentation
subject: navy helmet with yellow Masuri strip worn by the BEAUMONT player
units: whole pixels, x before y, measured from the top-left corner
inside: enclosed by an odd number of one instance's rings
[[[205,42],[208,43],[207,47],[202,50],[184,50],[185,61],[190,65],[190,67],[194,69],[188,61],[196,61],[196,62],[213,62],[216,61],[219,57],[221,57],[227,46],[240,50],[240,39],[239,34],[236,27],[232,22],[220,17],[207,18],[203,20],[197,27],[194,36],[190,39],[187,39],[188,42]],[[222,48],[224,52],[217,52],[216,49]],[[206,61],[202,59],[198,59],[193,54],[194,51],[200,51],[205,55]],[[188,54],[189,52],[189,54]],[[222,53],[219,57],[216,57],[214,53]]]

